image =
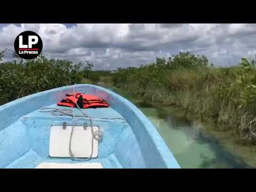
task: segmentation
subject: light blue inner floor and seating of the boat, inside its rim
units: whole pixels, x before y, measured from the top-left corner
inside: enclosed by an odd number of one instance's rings
[[[77,108],[62,107],[56,104],[45,106],[47,108],[71,109],[73,114],[82,115]],[[126,167],[145,167],[145,161],[141,155],[140,147],[130,125],[116,110],[108,108],[89,108],[82,109],[85,114],[92,117],[92,125],[99,126],[103,133],[103,138],[99,142],[98,157],[86,162],[73,161],[69,157],[50,157],[49,140],[51,126],[73,125],[73,117],[54,116],[51,113],[41,113],[38,110],[24,115],[13,124],[0,130],[0,138],[3,140],[2,146],[6,150],[0,150],[0,156],[4,157],[3,167],[6,168],[35,168],[39,167],[63,167],[86,166],[81,163],[100,163],[103,168],[126,168]],[[124,119],[124,118],[123,118]],[[77,117],[76,125],[90,125],[89,118]],[[19,128],[19,129],[17,129]],[[45,164],[58,163],[58,164]],[[64,164],[59,164],[64,163]],[[99,164],[91,164],[93,167]]]

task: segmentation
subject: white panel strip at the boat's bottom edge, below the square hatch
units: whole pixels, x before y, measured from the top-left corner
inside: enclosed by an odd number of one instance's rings
[[[41,163],[36,169],[103,169],[101,163]]]

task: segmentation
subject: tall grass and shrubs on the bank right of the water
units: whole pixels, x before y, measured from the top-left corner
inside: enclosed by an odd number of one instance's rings
[[[179,106],[185,116],[214,119],[219,129],[233,129],[237,139],[249,139],[250,122],[256,117],[255,61],[242,59],[239,67],[215,68],[204,56],[179,53],[139,68],[120,68],[113,81],[149,102]]]

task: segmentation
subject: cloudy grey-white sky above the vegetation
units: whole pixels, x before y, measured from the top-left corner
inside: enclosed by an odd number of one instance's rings
[[[0,23],[0,50],[13,50],[15,37],[26,30],[41,36],[47,58],[89,60],[94,69],[136,67],[179,51],[205,55],[215,66],[256,55],[256,24]]]

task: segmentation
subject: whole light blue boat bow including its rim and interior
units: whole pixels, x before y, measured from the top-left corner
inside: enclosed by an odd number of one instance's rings
[[[41,114],[43,107],[58,107],[55,103],[73,93],[64,86],[28,95],[0,106],[0,167],[34,168],[42,162],[74,163],[70,158],[49,157],[49,138],[52,125],[66,121],[67,116]],[[93,125],[103,132],[99,155],[89,162],[100,162],[104,168],[180,168],[162,137],[149,119],[130,101],[103,87],[75,85],[77,92],[94,94],[106,100],[109,108],[83,109],[94,117]],[[62,107],[65,108],[65,107]],[[72,108],[79,114],[78,109]],[[105,118],[105,119],[102,119]],[[110,118],[124,118],[108,121]],[[77,125],[89,123],[80,118]]]

